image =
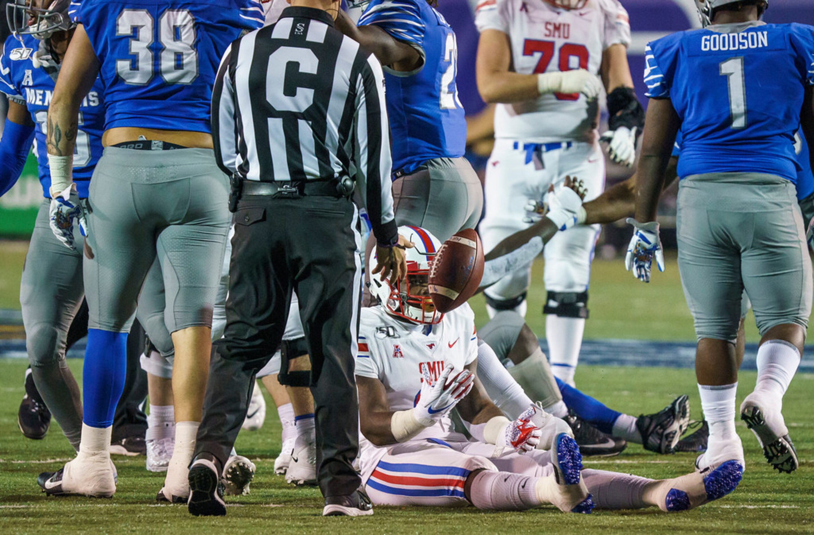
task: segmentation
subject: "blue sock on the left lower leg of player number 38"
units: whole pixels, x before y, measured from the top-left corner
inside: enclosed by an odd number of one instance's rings
[[[88,329],[82,368],[82,421],[91,428],[109,428],[125,389],[127,333]]]

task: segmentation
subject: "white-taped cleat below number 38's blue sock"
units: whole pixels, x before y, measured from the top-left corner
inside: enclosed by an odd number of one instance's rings
[[[107,454],[77,454],[55,472],[42,472],[37,484],[48,496],[112,498],[116,493],[116,471]]]

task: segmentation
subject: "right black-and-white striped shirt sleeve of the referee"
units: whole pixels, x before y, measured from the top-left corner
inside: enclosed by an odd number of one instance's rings
[[[384,103],[384,74],[374,55],[369,55],[357,78],[354,135],[357,154],[354,164],[365,184],[368,217],[376,241],[383,247],[398,243],[393,215],[390,175],[390,126]]]

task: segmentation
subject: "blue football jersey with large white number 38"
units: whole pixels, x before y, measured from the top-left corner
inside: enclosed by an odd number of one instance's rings
[[[71,12],[101,64],[105,129],[210,132],[221,56],[264,20],[256,0],[82,0]]]

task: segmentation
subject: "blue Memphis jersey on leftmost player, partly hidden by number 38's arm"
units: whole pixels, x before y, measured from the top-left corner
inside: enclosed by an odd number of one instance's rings
[[[50,198],[50,169],[46,152],[48,104],[54,94],[55,72],[53,77],[45,68],[36,68],[31,58],[37,52],[40,42],[30,35],[23,35],[22,42],[14,36],[7,38],[0,57],[0,91],[21,104],[24,102],[36,123],[34,130],[34,154],[42,195]],[[104,104],[102,85],[98,78],[94,86],[82,100],[79,107],[79,129],[77,146],[73,152],[73,181],[77,183],[79,196],[88,196],[90,176],[99,157],[102,156],[102,131],[104,125]]]

